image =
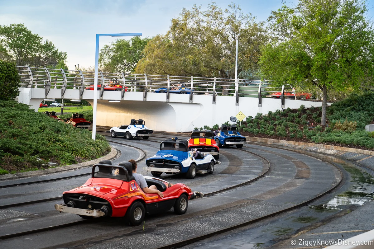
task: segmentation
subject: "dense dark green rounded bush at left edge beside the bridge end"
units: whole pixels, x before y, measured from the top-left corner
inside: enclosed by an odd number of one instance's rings
[[[0,99],[12,100],[17,97],[20,83],[16,66],[0,60]]]

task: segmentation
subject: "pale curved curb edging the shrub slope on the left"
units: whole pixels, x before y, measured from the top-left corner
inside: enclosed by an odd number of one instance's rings
[[[21,172],[21,173],[16,173],[16,174],[0,175],[0,181],[14,180],[14,179],[24,178],[24,177],[35,177],[35,176],[40,176],[40,175],[48,175],[48,174],[53,174],[53,173],[58,173],[58,172],[63,172],[63,171],[69,171],[73,169],[91,167],[92,165],[102,160],[114,159],[117,157],[118,154],[120,155],[121,152],[111,147],[110,153],[108,153],[105,156],[102,156],[101,158],[93,159],[91,161],[86,161],[86,162],[80,162],[79,164],[71,164],[71,165],[66,165],[66,166],[61,166],[61,167],[56,167],[56,168],[40,169],[36,171],[27,171],[27,172]]]

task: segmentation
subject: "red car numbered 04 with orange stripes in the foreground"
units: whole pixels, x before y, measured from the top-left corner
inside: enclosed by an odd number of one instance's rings
[[[99,172],[95,173],[95,168]],[[119,174],[112,173],[113,168]],[[188,208],[188,200],[195,193],[182,183],[171,185],[169,182],[145,177],[148,186],[155,185],[163,193],[144,193],[132,175],[132,164],[121,162],[110,165],[110,161],[102,161],[92,167],[92,177],[85,184],[62,194],[64,204],[55,205],[60,212],[77,214],[82,218],[125,217],[131,225],[140,225],[145,214],[168,211],[174,207],[176,214],[184,214]]]

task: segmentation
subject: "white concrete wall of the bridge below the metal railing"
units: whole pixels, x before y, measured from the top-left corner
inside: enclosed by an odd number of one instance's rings
[[[31,105],[36,111],[40,102],[45,99],[43,88],[19,88],[19,102]],[[97,93],[99,95],[99,92]],[[104,91],[102,99],[98,96],[96,124],[102,126],[118,126],[129,124],[132,118],[144,119],[148,128],[157,131],[186,132],[194,127],[215,124],[221,125],[229,121],[230,116],[236,116],[239,111],[245,116],[255,116],[258,112],[281,109],[281,99],[263,98],[262,107],[258,99],[240,97],[239,105],[235,105],[234,96],[217,96],[216,104],[212,104],[212,95],[193,95],[193,103],[189,103],[189,94],[170,94],[166,102],[166,93],[147,93],[143,101],[142,92],[125,92],[124,100],[119,103],[108,100],[120,100],[121,92]],[[51,89],[47,98],[60,99],[61,90]],[[79,99],[79,90],[67,89],[64,99]],[[83,99],[93,104],[93,91],[84,91]],[[306,108],[319,107],[321,102],[304,100],[285,100],[285,108],[297,109],[300,105]]]

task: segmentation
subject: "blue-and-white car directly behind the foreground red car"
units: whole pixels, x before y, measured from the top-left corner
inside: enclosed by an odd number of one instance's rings
[[[145,161],[145,171],[150,171],[155,177],[163,172],[166,174],[186,174],[187,178],[193,179],[196,173],[213,174],[214,165],[220,164],[212,155],[193,152],[188,149],[187,140],[177,141],[178,138],[169,138],[160,143],[160,150],[156,155]]]

